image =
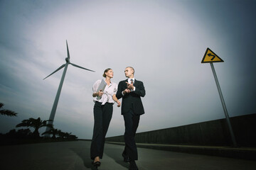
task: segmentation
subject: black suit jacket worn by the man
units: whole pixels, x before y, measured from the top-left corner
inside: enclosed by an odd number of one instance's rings
[[[128,79],[120,81],[117,88],[117,98],[122,98],[122,109],[121,113],[124,115],[125,113],[128,113],[131,109],[134,111],[134,114],[136,115],[142,115],[144,114],[144,107],[142,105],[142,99],[141,97],[144,97],[146,94],[146,91],[144,89],[144,85],[142,81],[138,81],[135,79],[134,86],[135,91],[132,91],[129,94],[122,95],[122,91],[127,89],[127,83]]]

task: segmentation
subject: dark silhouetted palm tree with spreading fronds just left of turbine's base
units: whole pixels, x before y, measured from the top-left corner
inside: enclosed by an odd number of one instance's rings
[[[21,123],[19,123],[18,125],[16,125],[16,128],[18,127],[31,127],[31,128],[35,128],[34,132],[33,132],[33,137],[40,137],[38,129],[42,128],[42,127],[49,127],[49,128],[53,128],[53,125],[47,125],[47,122],[49,120],[41,120],[41,118],[29,118],[26,120],[22,120]]]

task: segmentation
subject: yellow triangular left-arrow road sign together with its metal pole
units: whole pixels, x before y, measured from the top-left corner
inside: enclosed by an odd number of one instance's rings
[[[227,123],[228,123],[228,129],[230,131],[230,135],[231,135],[233,145],[234,145],[234,147],[238,147],[237,142],[235,141],[235,135],[233,133],[233,129],[232,129],[232,126],[231,126],[231,123],[230,123],[230,118],[228,116],[228,110],[225,106],[225,101],[224,101],[224,98],[223,98],[223,94],[222,94],[221,89],[220,89],[220,84],[218,82],[218,77],[217,77],[217,74],[216,74],[215,69],[213,67],[213,62],[224,62],[224,61],[220,57],[218,57],[218,55],[215,55],[215,53],[212,50],[210,50],[210,48],[207,48],[206,53],[203,56],[203,60],[202,60],[201,63],[207,63],[207,62],[210,63],[210,67],[213,71],[213,77],[215,79],[217,89],[218,89],[218,93],[220,95],[220,101],[223,105],[223,110],[224,110],[224,113],[225,113],[225,118],[226,118]]]

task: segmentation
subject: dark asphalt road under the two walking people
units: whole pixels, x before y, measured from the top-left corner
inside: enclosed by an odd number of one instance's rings
[[[123,170],[129,163],[122,161],[121,145],[105,145],[99,169]],[[139,170],[247,170],[256,162],[201,154],[186,154],[156,149],[138,148]],[[1,170],[85,170],[94,169],[90,160],[90,141],[52,142],[0,147]]]

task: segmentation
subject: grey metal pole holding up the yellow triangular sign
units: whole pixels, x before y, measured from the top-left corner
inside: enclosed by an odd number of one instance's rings
[[[233,141],[233,145],[234,145],[234,147],[238,147],[237,142],[235,141],[235,135],[233,133],[233,129],[232,129],[232,126],[231,126],[231,123],[230,123],[230,118],[228,116],[228,110],[227,110],[227,108],[225,106],[225,101],[224,101],[224,98],[223,98],[223,94],[222,94],[221,89],[220,89],[220,84],[218,82],[217,74],[215,72],[215,69],[213,67],[213,63],[212,62],[210,62],[210,67],[213,70],[213,77],[215,79],[215,82],[216,82],[216,85],[217,85],[217,88],[218,88],[218,93],[220,95],[220,101],[221,101],[221,103],[223,105],[223,110],[224,110],[224,113],[225,113],[225,118],[226,118],[227,123],[228,123],[228,129],[230,130],[230,135],[231,135],[231,139]]]

